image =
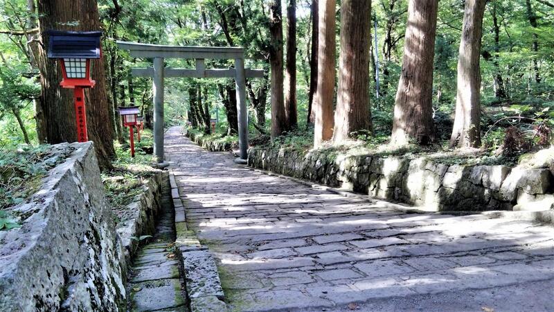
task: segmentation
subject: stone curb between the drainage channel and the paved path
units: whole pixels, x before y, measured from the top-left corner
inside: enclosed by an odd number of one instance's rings
[[[175,175],[170,169],[170,186],[175,205],[175,251],[181,262],[190,311],[228,311],[213,254],[202,246],[194,231],[186,225],[185,203],[179,196]]]

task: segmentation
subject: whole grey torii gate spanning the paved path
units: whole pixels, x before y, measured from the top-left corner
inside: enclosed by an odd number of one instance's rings
[[[133,58],[154,58],[154,67],[132,69],[136,77],[154,78],[154,155],[163,164],[163,80],[164,78],[235,78],[237,90],[238,141],[240,158],[235,162],[246,163],[248,157],[248,109],[246,103],[246,78],[262,78],[264,71],[244,69],[244,50],[238,47],[164,46],[118,41],[119,49],[127,50]],[[164,58],[196,60],[196,69],[172,69],[163,67]],[[235,68],[206,69],[205,59],[235,60]]]

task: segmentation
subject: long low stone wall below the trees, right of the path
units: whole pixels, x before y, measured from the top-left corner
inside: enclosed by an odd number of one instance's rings
[[[425,158],[259,147],[249,150],[248,164],[429,211],[542,211],[554,204],[554,177],[547,166],[460,166]]]

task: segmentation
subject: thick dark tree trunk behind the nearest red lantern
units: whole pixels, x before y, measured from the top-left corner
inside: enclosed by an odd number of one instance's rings
[[[46,31],[99,31],[100,16],[98,3],[93,0],[39,0],[38,14],[42,46],[39,51],[42,94],[40,105],[46,121],[48,143],[76,141],[75,107],[73,92],[60,87],[62,73],[56,60],[47,58],[48,34]],[[78,21],[77,26],[73,22]],[[112,120],[106,96],[106,76],[104,58],[92,61],[91,77],[96,80],[93,89],[87,89],[87,130],[89,139],[94,142],[98,164],[101,168],[111,168],[111,159],[115,156],[112,141]]]

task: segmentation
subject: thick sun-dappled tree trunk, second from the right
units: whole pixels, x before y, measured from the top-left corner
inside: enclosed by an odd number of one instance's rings
[[[438,0],[410,0],[402,73],[396,94],[393,144],[435,141],[433,125],[433,59]]]

